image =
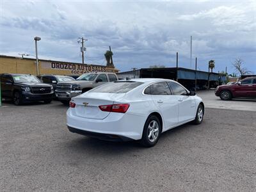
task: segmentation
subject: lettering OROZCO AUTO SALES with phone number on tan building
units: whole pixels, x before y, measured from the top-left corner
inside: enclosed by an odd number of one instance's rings
[[[113,72],[113,68],[95,65],[80,65],[72,63],[51,62],[52,69],[70,70],[71,74],[83,74],[86,72]]]

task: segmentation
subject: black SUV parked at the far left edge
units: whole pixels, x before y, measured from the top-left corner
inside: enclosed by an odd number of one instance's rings
[[[1,94],[4,99],[12,99],[15,105],[24,102],[52,101],[53,87],[42,83],[36,76],[27,74],[0,74]]]

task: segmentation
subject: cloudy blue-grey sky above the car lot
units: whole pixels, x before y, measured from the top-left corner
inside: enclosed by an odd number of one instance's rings
[[[200,70],[215,60],[214,72],[227,66],[232,73],[241,58],[256,74],[255,1],[2,0],[0,18],[0,54],[35,54],[33,37],[40,36],[40,58],[81,63],[77,38],[84,36],[86,63],[105,65],[111,45],[121,71],[175,67],[177,51],[180,67],[189,68],[192,35]]]

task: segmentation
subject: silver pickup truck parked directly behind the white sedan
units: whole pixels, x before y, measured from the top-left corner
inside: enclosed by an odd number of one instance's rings
[[[72,97],[76,97],[102,84],[117,80],[118,77],[114,73],[86,73],[78,77],[76,81],[58,83],[55,93],[58,100],[63,102],[63,104],[68,104]]]

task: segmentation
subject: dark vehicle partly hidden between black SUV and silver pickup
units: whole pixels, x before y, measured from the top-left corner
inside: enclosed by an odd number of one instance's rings
[[[67,81],[75,81],[73,77],[69,76],[55,76],[55,75],[40,75],[37,76],[43,83],[51,84],[53,89],[56,90],[57,83],[67,82]]]

